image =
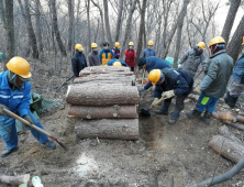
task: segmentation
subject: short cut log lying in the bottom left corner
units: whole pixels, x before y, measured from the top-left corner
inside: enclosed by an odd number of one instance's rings
[[[9,185],[26,184],[29,179],[30,179],[30,174],[24,174],[20,176],[0,175],[0,183],[9,184]]]

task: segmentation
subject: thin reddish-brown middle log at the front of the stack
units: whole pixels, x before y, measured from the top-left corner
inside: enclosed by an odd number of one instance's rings
[[[87,107],[69,106],[69,118],[80,119],[111,119],[111,118],[138,118],[135,106],[109,106],[109,107]]]

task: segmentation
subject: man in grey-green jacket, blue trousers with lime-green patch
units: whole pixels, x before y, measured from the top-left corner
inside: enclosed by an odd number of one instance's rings
[[[211,56],[208,62],[206,76],[195,89],[195,92],[200,94],[200,97],[193,111],[187,112],[189,118],[200,118],[207,124],[210,123],[218,100],[224,96],[233,69],[233,59],[226,54],[223,37],[213,37],[210,41],[209,48]],[[204,114],[201,117],[203,111]]]

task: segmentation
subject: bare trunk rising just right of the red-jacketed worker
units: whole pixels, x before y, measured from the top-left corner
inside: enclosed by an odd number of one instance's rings
[[[141,22],[140,22],[140,29],[138,29],[138,42],[137,42],[137,53],[136,58],[140,58],[143,47],[143,35],[145,34],[145,10],[146,10],[146,1],[143,0],[142,9],[140,11],[141,13]]]

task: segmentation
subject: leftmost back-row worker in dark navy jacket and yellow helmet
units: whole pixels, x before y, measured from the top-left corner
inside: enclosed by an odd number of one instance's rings
[[[73,72],[76,77],[79,77],[79,72],[87,67],[87,61],[84,55],[84,47],[81,44],[76,44],[76,53],[71,58]]]

